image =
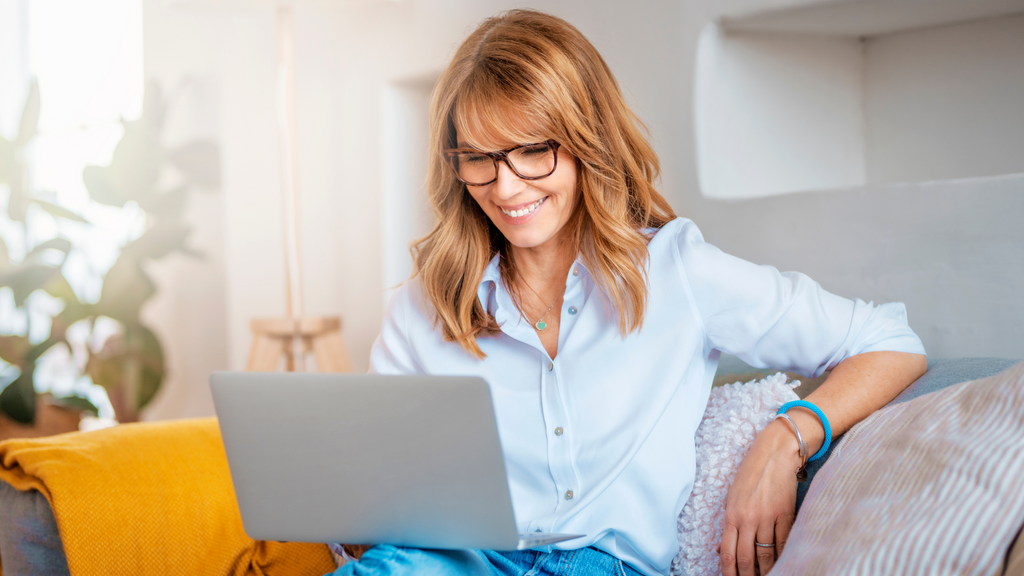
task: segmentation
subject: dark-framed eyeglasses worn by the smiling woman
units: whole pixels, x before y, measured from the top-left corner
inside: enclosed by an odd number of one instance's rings
[[[546,178],[558,167],[558,142],[555,140],[519,145],[498,152],[450,148],[443,154],[455,176],[467,186],[487,186],[497,180],[499,161],[524,180]]]

